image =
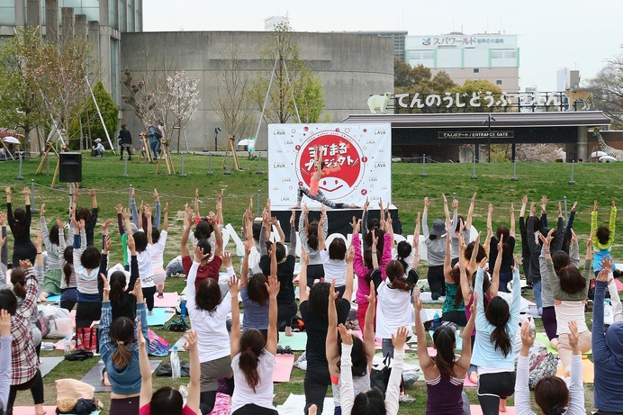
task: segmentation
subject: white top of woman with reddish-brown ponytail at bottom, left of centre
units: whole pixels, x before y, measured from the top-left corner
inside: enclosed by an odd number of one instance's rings
[[[254,403],[262,408],[274,410],[273,406],[273,371],[275,370],[276,358],[268,353],[266,349],[257,363],[257,374],[259,374],[259,383],[256,386],[256,392],[248,385],[245,374],[240,370],[239,366],[240,354],[231,359],[231,369],[234,373],[234,394],[231,396],[231,412],[242,408],[249,403]]]

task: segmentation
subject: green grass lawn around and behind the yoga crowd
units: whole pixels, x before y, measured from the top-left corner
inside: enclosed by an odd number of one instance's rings
[[[174,155],[173,160],[176,169],[179,169],[179,156]],[[100,207],[100,222],[104,219],[115,218],[114,205],[122,203],[127,205],[129,199],[129,189],[133,185],[136,187],[137,199],[146,202],[152,200],[151,193],[154,187],[158,188],[162,203],[169,203],[169,241],[165,253],[165,261],[179,254],[179,237],[181,234],[182,212],[185,203],[193,203],[194,189],[199,188],[201,198],[201,212],[207,213],[214,209],[216,196],[222,188],[226,189],[224,196],[223,215],[226,223],[231,223],[238,230],[241,225],[241,216],[248,205],[249,198],[253,198],[254,206],[257,203],[257,192],[260,192],[262,203],[266,201],[267,175],[266,160],[261,160],[263,175],[257,175],[258,163],[255,159],[241,158],[243,171],[232,172],[230,176],[223,174],[221,170],[222,158],[212,158],[213,176],[207,176],[208,158],[204,154],[185,155],[185,173],[187,177],[156,175],[156,166],[147,163],[134,161],[129,164],[129,177],[122,177],[123,163],[117,157],[83,158],[83,182],[84,188],[97,189],[97,199]],[[23,181],[15,179],[18,176],[17,162],[0,163],[0,185],[5,187],[10,185],[14,189],[14,206],[19,207],[23,203],[20,188],[24,185],[31,185],[31,180],[35,181],[35,207],[41,203],[46,203],[48,210],[48,221],[55,217],[67,217],[68,191],[67,185],[58,184],[55,188],[50,188],[51,176],[44,174],[34,176],[34,172],[39,164],[39,159],[25,160],[23,162]],[[50,158],[50,173],[54,171],[56,158]],[[163,166],[164,167],[164,166]],[[399,210],[403,226],[403,234],[412,233],[414,221],[418,211],[423,207],[423,198],[426,195],[432,200],[429,212],[429,220],[442,217],[443,204],[440,200],[442,193],[451,196],[456,194],[460,201],[460,212],[465,213],[469,205],[469,199],[474,192],[477,192],[477,203],[474,210],[474,226],[479,230],[484,230],[488,203],[493,203],[495,208],[493,216],[493,226],[499,224],[508,226],[510,203],[515,203],[516,216],[519,217],[520,199],[523,194],[528,194],[530,200],[537,202],[541,195],[549,197],[547,211],[549,220],[554,222],[556,219],[557,202],[568,201],[568,209],[571,210],[573,201],[578,202],[577,213],[573,228],[581,239],[581,253],[584,252],[585,240],[590,230],[590,218],[592,202],[594,199],[600,202],[600,222],[607,223],[609,218],[609,204],[612,199],[620,202],[620,189],[617,177],[623,177],[623,164],[576,164],[574,170],[575,185],[568,185],[571,177],[572,166],[561,163],[520,163],[517,168],[519,181],[511,181],[513,176],[513,166],[510,163],[501,164],[480,164],[477,166],[477,180],[472,176],[471,164],[427,164],[426,173],[428,176],[421,177],[422,166],[420,164],[401,164],[392,165],[392,186],[393,201]],[[165,169],[166,170],[166,169]],[[161,169],[162,171],[162,169]],[[4,196],[0,196],[2,198]],[[90,206],[86,192],[80,196],[78,206]],[[0,209],[5,209],[5,203],[0,203]],[[255,207],[254,207],[255,209]],[[528,206],[529,209],[529,206]],[[32,230],[38,226],[38,216],[33,215]],[[114,235],[114,232],[112,232]],[[11,238],[9,238],[11,239]],[[111,252],[111,262],[121,262],[122,253],[120,239],[116,239],[116,245]],[[519,230],[518,230],[519,239]],[[518,240],[519,242],[519,240]],[[10,246],[13,245],[9,240]],[[230,245],[230,248],[233,248]],[[519,248],[516,249],[519,253]],[[612,253],[615,258],[623,254],[620,244],[615,244]],[[425,275],[426,266],[420,265],[420,275]],[[173,278],[167,281],[167,291],[181,291],[184,281],[181,278]],[[531,292],[528,292],[528,298]],[[590,321],[591,314],[587,315]],[[540,320],[537,320],[540,326]],[[542,330],[542,327],[539,327]],[[158,335],[167,338],[174,343],[179,338],[179,333],[158,330]],[[42,356],[59,356],[62,352],[43,352]],[[185,358],[182,355],[182,358]],[[165,363],[167,363],[165,358]],[[80,378],[93,365],[96,359],[86,362],[62,362],[50,374],[44,378],[46,402],[54,404],[56,401],[56,390],[54,380],[65,377]],[[298,369],[293,369],[292,379],[289,383],[275,385],[275,403],[280,404],[287,398],[289,393],[302,393],[302,380],[304,373]],[[171,384],[168,378],[154,377],[154,385],[158,387],[164,384]],[[470,401],[477,401],[474,389],[465,388]],[[592,409],[592,388],[591,385],[585,387],[586,408]],[[416,401],[411,404],[401,405],[401,414],[424,413],[426,406],[426,389],[423,382],[416,383],[414,388],[408,390]],[[97,398],[106,403],[104,414],[107,412],[107,402],[109,396],[105,393],[97,394]],[[512,400],[510,400],[511,402]],[[16,404],[31,405],[32,397],[28,392],[20,392]]]

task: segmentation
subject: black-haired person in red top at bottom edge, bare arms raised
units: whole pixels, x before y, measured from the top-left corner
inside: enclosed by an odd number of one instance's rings
[[[199,363],[199,348],[197,347],[197,332],[188,330],[184,333],[186,340],[184,348],[190,355],[190,383],[188,383],[188,395],[184,404],[184,397],[177,389],[170,386],[162,386],[156,392],[151,385],[151,367],[147,356],[148,339],[142,333],[142,325],[137,329],[139,340],[139,363],[140,363],[140,398],[139,415],[161,413],[167,415],[201,415],[199,410],[199,394],[201,388],[201,364]]]

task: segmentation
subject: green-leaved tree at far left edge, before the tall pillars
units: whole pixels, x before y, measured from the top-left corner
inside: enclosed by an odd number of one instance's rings
[[[36,79],[29,76],[32,60],[41,53],[38,28],[16,28],[14,37],[0,49],[0,121],[2,126],[23,130],[24,149],[30,150],[30,133],[45,123],[46,112]],[[39,149],[43,142],[39,137]]]

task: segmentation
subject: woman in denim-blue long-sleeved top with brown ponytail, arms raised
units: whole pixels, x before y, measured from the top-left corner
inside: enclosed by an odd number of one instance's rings
[[[113,308],[109,299],[110,286],[105,275],[100,275],[104,284],[102,318],[100,319],[100,355],[106,374],[112,386],[110,415],[134,415],[139,413],[141,376],[140,347],[149,349],[149,340],[142,346],[134,339],[134,320],[119,317],[113,321]],[[140,320],[143,337],[149,338],[147,311],[143,302],[140,280],[134,284],[132,295],[136,297],[136,312]]]

